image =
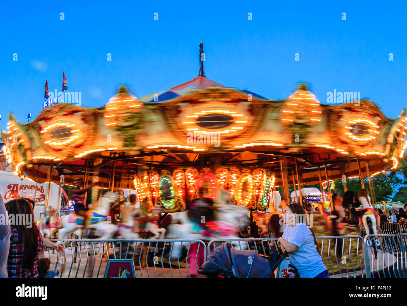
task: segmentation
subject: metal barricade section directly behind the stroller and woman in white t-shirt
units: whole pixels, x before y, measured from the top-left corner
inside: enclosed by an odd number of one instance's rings
[[[330,278],[370,278],[367,273],[365,243],[360,236],[324,236],[316,237],[318,252],[328,269]],[[241,250],[256,250],[259,254],[268,255],[277,250],[278,238],[254,239],[216,239],[208,244],[208,256],[218,245],[229,242]],[[300,275],[301,276],[301,275]]]

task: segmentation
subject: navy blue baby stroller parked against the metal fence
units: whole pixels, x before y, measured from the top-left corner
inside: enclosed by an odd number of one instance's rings
[[[274,270],[287,256],[287,252],[272,251],[269,256],[264,256],[256,250],[236,250],[224,242],[215,247],[208,260],[198,268],[198,273],[208,278],[275,278]],[[298,270],[293,265],[289,267],[294,278],[300,278]]]

